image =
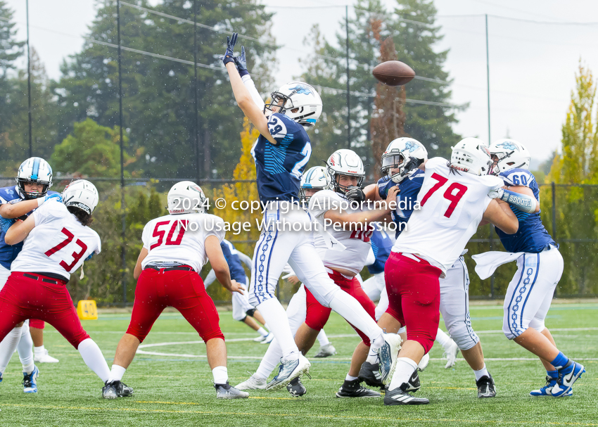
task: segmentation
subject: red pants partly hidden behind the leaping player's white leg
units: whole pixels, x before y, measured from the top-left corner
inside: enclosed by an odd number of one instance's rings
[[[362,289],[360,281],[358,281],[355,277],[351,279],[347,279],[343,274],[339,272],[332,272],[328,274],[330,278],[336,283],[338,286],[341,287],[343,291],[351,295],[357,301],[360,302],[362,307],[364,307],[367,314],[374,319],[374,312],[376,311],[376,305],[374,302],[371,302],[367,294]],[[311,329],[315,329],[319,331],[320,329],[324,328],[324,325],[328,321],[330,317],[330,312],[332,311],[329,307],[324,307],[324,305],[320,304],[318,300],[312,295],[307,286],[305,287],[305,293],[307,294],[307,315],[305,316],[305,323],[307,326],[310,326]],[[355,326],[351,325],[353,329],[359,334],[362,338],[365,345],[369,347],[369,338],[365,335],[362,331],[355,328]]]

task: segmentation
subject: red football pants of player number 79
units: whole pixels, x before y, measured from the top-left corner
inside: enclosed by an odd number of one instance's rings
[[[419,262],[390,253],[384,266],[388,309],[386,312],[407,326],[407,339],[430,351],[440,322],[440,274],[425,260]]]

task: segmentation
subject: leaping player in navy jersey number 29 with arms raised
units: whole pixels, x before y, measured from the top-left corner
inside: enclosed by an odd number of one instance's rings
[[[322,99],[309,84],[291,82],[272,92],[272,101],[265,104],[247,70],[244,47],[241,56],[234,56],[237,36],[233,33],[227,38],[222,62],[239,108],[260,132],[251,152],[263,221],[253,254],[249,302],[260,310],[283,353],[279,374],[268,388],[281,388],[310,368],[276,298],[276,285],[287,262],[324,307],[338,312],[368,336],[371,348],[380,355],[386,379],[394,370],[400,337],[384,334],[360,303],[329,278],[314,249],[313,220],[299,204],[300,179],[312,153],[306,129],[322,114]]]

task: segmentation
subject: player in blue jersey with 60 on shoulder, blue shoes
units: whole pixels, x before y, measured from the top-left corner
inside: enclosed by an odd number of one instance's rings
[[[546,314],[556,284],[563,274],[564,262],[558,246],[540,219],[540,191],[535,177],[528,170],[529,151],[518,141],[500,139],[490,146],[490,153],[494,160],[491,172],[504,180],[504,188],[533,196],[537,203],[532,213],[513,209],[519,219],[519,230],[515,234],[496,230],[507,253],[474,255],[473,259],[478,263],[476,272],[485,279],[499,265],[517,260],[517,272],[504,298],[502,331],[509,340],[514,340],[540,357],[546,368],[546,385],[539,390],[532,390],[530,395],[571,395],[573,383],[585,372],[585,368],[556,348],[545,326]]]

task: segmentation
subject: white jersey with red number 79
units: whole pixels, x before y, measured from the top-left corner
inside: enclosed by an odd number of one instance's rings
[[[488,192],[503,185],[502,179],[492,175],[453,173],[443,158],[428,160],[417,196],[421,208],[413,211],[393,252],[422,255],[446,272],[478,229],[492,201]]]

